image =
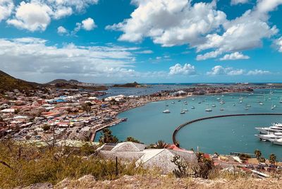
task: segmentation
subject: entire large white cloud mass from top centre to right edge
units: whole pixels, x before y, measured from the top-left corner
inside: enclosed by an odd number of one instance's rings
[[[188,44],[197,49],[197,60],[262,47],[263,39],[278,33],[276,25],[269,23],[269,11],[274,11],[282,0],[258,0],[257,5],[233,20],[227,20],[225,13],[216,10],[216,2],[134,0],[136,8],[130,18],[106,29],[122,31],[118,38],[121,41],[140,42],[149,37],[163,47]]]

